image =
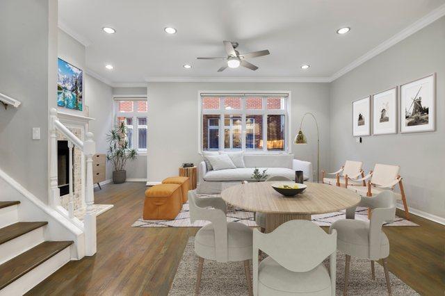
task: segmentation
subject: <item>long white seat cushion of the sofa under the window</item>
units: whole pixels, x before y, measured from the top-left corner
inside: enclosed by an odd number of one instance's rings
[[[291,180],[295,179],[295,172],[286,167],[258,167],[260,171],[266,170],[269,176],[285,176]],[[209,171],[204,175],[205,181],[254,181],[252,179],[254,167],[236,168],[232,170]],[[307,176],[305,176],[307,180]]]

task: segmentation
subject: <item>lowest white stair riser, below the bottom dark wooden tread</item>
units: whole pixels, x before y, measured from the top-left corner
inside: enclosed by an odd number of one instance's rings
[[[63,249],[63,251],[52,256],[47,261],[44,261],[44,263],[38,265],[38,267],[1,289],[0,296],[24,295],[24,293],[37,286],[38,283],[56,272],[56,270],[68,263],[68,261],[70,261],[70,247]]]

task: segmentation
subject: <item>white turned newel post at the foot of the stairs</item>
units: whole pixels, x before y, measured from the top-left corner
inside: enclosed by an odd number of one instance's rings
[[[86,256],[96,254],[97,236],[96,236],[96,215],[93,211],[95,195],[92,187],[92,156],[96,153],[96,143],[92,140],[93,134],[86,133],[86,140],[83,142],[83,154],[86,157],[86,184],[85,184],[85,203],[86,214],[83,224],[85,227]]]

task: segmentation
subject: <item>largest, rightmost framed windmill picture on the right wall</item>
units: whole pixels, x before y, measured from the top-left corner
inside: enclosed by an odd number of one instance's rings
[[[436,74],[401,85],[401,132],[435,129]]]

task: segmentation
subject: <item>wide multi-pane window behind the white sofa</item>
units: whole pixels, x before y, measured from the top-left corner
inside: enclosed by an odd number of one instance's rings
[[[200,94],[200,149],[288,151],[288,104],[287,93]]]

